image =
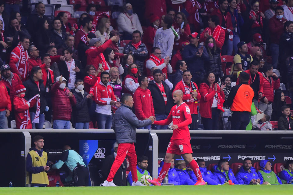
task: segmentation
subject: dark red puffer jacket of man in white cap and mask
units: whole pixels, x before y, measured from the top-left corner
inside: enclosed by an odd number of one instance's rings
[[[65,91],[59,88],[60,83],[56,82],[51,88],[52,106],[53,106],[53,120],[67,120],[71,119],[72,107],[76,104],[74,95],[68,96],[70,92],[67,88]]]

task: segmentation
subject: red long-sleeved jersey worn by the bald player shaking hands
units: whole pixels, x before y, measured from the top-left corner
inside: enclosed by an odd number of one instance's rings
[[[183,139],[188,136],[190,138],[190,133],[188,125],[191,124],[191,114],[190,108],[186,103],[173,106],[167,119],[162,121],[154,121],[155,125],[169,125],[173,120],[173,125],[178,125],[177,129],[173,130],[173,135],[171,139]]]

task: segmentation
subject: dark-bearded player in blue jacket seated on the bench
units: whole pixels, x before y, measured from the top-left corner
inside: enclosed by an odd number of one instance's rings
[[[238,181],[238,184],[261,184],[259,175],[255,171],[255,168],[252,167],[251,158],[247,157],[244,159],[243,166],[236,174],[236,179]]]

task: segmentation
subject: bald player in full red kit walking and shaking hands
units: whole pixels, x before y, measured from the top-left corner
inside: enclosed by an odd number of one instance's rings
[[[186,103],[183,102],[182,98],[183,92],[181,90],[174,91],[173,102],[176,103],[176,105],[172,107],[167,119],[162,121],[154,121],[155,125],[169,125],[173,121],[173,125],[171,126],[173,129],[173,135],[166,151],[162,170],[158,176],[158,179],[148,179],[150,183],[156,186],[160,186],[161,182],[163,182],[163,179],[170,168],[171,160],[175,154],[183,155],[186,164],[189,163],[190,168],[192,168],[194,174],[197,177],[197,182],[195,185],[205,185],[198,164],[191,155],[192,149],[190,145],[190,133],[188,129],[188,125],[191,123],[191,114],[190,108]]]

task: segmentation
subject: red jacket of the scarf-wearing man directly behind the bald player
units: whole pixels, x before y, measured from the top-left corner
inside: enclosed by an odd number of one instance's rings
[[[195,88],[197,89],[197,100],[200,100],[201,99],[201,94],[200,94],[200,92],[199,92],[199,90],[198,90],[198,87],[197,87],[197,85],[196,85],[196,83],[195,82],[193,82],[194,83],[194,86],[195,86]],[[197,106],[198,106],[198,103],[197,104],[195,104],[194,102],[190,102],[189,100],[190,99],[193,99],[192,97],[191,97],[191,95],[190,95],[190,88],[189,88],[189,86],[188,85],[186,85],[186,87],[188,88],[188,89],[186,89],[185,90],[185,88],[184,88],[184,86],[183,86],[183,82],[182,81],[179,81],[177,84],[176,84],[176,86],[175,86],[175,88],[174,88],[174,91],[175,90],[177,90],[177,89],[180,89],[181,91],[183,91],[183,101],[189,106],[189,108],[190,108],[190,114],[198,114],[197,113]],[[188,101],[186,101],[186,100],[188,100]]]

